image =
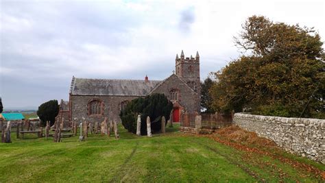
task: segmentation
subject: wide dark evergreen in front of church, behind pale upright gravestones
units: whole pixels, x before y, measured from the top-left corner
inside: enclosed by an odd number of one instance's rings
[[[141,134],[147,134],[147,117],[151,119],[152,132],[160,131],[161,118],[165,116],[166,121],[169,120],[169,114],[173,108],[173,104],[164,94],[154,93],[145,98],[139,97],[129,102],[125,109],[121,111],[122,125],[126,130],[136,133],[136,119],[141,114]]]

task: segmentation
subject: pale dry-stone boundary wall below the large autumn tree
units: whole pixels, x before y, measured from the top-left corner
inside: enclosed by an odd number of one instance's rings
[[[273,140],[291,153],[325,164],[325,120],[236,113],[233,123]]]

